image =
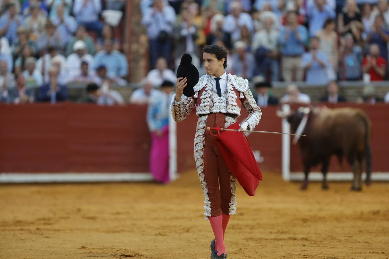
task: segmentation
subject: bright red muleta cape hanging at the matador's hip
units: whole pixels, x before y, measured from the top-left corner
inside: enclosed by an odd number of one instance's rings
[[[239,123],[236,122],[227,129],[240,129]],[[214,134],[214,130],[217,130],[217,134]],[[228,169],[245,192],[249,196],[254,196],[259,181],[262,181],[262,174],[250,148],[249,141],[243,132],[220,130],[219,127],[211,128],[211,133],[215,136],[215,141]]]

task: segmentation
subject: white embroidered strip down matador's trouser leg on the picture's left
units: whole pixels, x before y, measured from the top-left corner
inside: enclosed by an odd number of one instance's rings
[[[208,186],[207,186],[207,182],[205,181],[205,174],[204,174],[204,143],[205,143],[205,125],[207,124],[207,118],[208,115],[201,116],[200,118],[198,118],[194,149],[195,149],[197,173],[204,194],[204,204],[205,204],[204,215],[205,215],[205,219],[209,220],[208,217],[211,216],[211,202],[209,201]]]

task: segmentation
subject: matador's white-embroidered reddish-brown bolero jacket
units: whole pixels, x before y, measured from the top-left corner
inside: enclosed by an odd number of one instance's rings
[[[203,75],[198,83],[193,87],[195,94],[191,97],[185,97],[178,104],[174,104],[172,99],[172,116],[176,122],[180,122],[191,113],[196,104],[196,115],[209,113],[231,113],[240,116],[240,107],[246,109],[249,116],[244,120],[249,124],[249,130],[253,130],[262,116],[261,108],[256,104],[254,97],[249,89],[249,81],[242,77],[228,74],[227,76],[227,95],[220,98],[226,105],[214,105],[212,100],[212,82],[211,76]]]

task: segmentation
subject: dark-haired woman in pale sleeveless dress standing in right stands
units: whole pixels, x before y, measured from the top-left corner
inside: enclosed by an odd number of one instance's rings
[[[327,75],[329,80],[335,80],[338,71],[338,35],[335,30],[335,20],[332,18],[326,19],[323,29],[317,32],[317,37],[320,40],[319,49],[327,55],[328,68]]]

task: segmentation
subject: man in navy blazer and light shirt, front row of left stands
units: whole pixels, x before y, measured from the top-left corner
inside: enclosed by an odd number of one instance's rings
[[[59,70],[55,66],[49,68],[49,82],[39,87],[38,101],[51,102],[55,104],[57,102],[66,101],[68,99],[68,89],[65,85],[58,83]]]

